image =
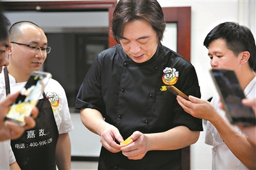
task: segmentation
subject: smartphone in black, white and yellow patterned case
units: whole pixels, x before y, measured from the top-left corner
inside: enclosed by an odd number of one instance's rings
[[[24,116],[30,116],[31,111],[42,95],[46,84],[51,79],[51,73],[35,71],[32,72],[28,82],[21,89],[15,102],[10,106],[5,120],[13,121],[20,126],[24,126]]]

